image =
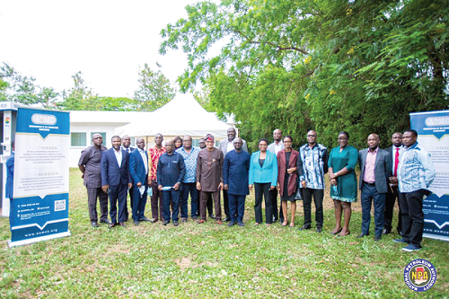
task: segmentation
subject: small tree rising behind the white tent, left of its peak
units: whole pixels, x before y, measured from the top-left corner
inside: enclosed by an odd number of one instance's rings
[[[153,111],[172,100],[175,92],[163,73],[158,70],[154,72],[147,64],[138,71],[140,84],[134,92],[136,110]]]

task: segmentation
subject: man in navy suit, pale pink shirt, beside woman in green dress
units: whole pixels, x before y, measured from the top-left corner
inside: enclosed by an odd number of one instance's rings
[[[375,241],[382,239],[387,180],[392,175],[392,158],[387,151],[379,148],[380,142],[377,134],[371,134],[368,136],[368,148],[358,152],[359,188],[362,190],[362,233],[357,238],[369,234],[371,202],[374,201]]]

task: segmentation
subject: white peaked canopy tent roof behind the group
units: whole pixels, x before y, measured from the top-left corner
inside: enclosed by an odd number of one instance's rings
[[[191,94],[177,94],[162,108],[154,110],[147,119],[136,119],[128,125],[115,129],[115,134],[123,136],[206,136],[226,137],[229,128],[216,118],[214,112],[207,112]]]

